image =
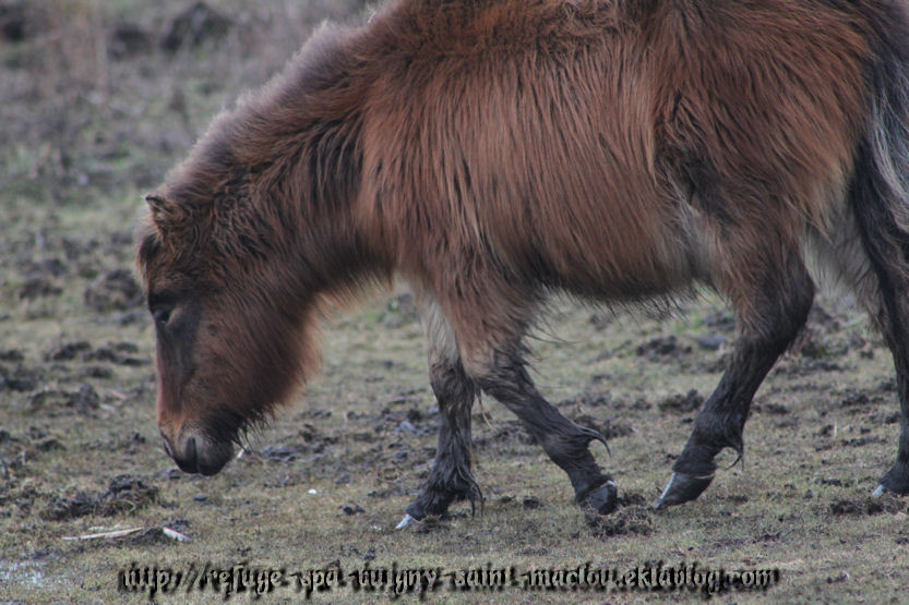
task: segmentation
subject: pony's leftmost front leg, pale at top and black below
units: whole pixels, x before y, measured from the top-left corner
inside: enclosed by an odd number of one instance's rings
[[[428,515],[443,515],[457,499],[482,506],[482,493],[470,470],[470,410],[477,385],[464,372],[457,341],[434,301],[417,294],[429,341],[429,377],[439,402],[439,446],[429,480],[417,499],[405,509],[404,529]]]

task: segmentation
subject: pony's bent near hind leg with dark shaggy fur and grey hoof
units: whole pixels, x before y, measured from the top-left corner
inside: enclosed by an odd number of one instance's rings
[[[734,279],[722,283],[720,278],[720,285],[725,286],[721,289],[735,307],[740,335],[726,373],[694,421],[657,508],[699,496],[710,484],[717,468],[714,458],[723,448],[743,455],[742,433],[751,400],[777,358],[799,334],[811,310],[814,285],[794,246],[778,241],[757,254],[740,251],[728,257],[741,264],[727,267],[727,275],[735,276]],[[744,276],[749,276],[746,282]]]

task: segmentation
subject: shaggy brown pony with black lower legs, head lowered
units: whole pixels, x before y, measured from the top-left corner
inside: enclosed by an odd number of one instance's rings
[[[540,396],[525,336],[554,291],[671,302],[701,283],[739,337],[658,506],[684,503],[722,448],[742,453],[755,390],[835,278],[893,351],[878,493],[909,493],[904,0],[392,0],[320,29],[147,201],[158,423],[187,472],[218,472],[311,371],[322,301],[399,276],[442,419],[403,524],[481,501],[481,390],[609,512],[588,451],[605,439]]]

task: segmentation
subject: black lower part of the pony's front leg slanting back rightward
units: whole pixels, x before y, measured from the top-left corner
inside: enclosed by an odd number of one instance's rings
[[[479,380],[482,389],[514,412],[549,458],[567,473],[582,507],[611,512],[615,508],[615,483],[601,472],[588,448],[593,440],[606,444],[606,438],[578,426],[549,403],[537,391],[519,355],[498,354],[494,361]]]

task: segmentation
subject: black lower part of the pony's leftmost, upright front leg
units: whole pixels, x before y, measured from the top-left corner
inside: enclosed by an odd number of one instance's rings
[[[443,515],[458,499],[470,500],[474,511],[478,504],[482,506],[482,493],[470,470],[470,409],[477,387],[461,362],[433,365],[430,374],[441,425],[427,485],[405,509],[417,520],[427,515]]]

